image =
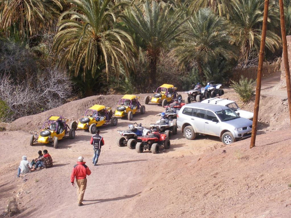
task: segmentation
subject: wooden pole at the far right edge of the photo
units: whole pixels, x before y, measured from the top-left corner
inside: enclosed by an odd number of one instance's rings
[[[287,87],[288,106],[289,106],[289,115],[290,115],[290,124],[291,124],[291,80],[290,80],[290,69],[289,69],[289,60],[288,60],[283,0],[279,0],[279,7],[280,7],[282,44],[283,44],[283,59],[284,59],[284,65],[285,65],[286,87]]]

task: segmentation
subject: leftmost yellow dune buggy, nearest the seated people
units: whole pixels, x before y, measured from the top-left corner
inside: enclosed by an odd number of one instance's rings
[[[61,116],[51,115],[42,125],[42,130],[40,131],[39,136],[30,136],[29,144],[32,146],[35,142],[45,144],[50,143],[54,145],[54,148],[57,148],[58,140],[61,140],[66,136],[73,139],[75,137],[75,130],[68,127],[66,124],[67,121],[67,119]]]

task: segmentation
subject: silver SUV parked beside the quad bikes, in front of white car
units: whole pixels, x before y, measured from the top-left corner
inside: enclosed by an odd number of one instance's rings
[[[250,137],[252,124],[230,108],[207,103],[186,104],[177,115],[177,126],[189,140],[200,133],[218,136],[224,144],[230,144]]]

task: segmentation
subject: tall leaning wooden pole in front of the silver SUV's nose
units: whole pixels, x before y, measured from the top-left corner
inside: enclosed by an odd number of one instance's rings
[[[262,67],[263,67],[263,62],[264,62],[264,51],[265,51],[265,42],[266,42],[266,33],[267,33],[268,9],[269,9],[269,0],[265,0],[262,37],[261,37],[261,45],[260,45],[260,53],[259,53],[257,88],[256,88],[256,94],[255,94],[253,128],[252,128],[250,148],[253,148],[255,146],[255,137],[257,134],[258,114],[259,114],[260,95],[261,95],[261,83],[262,83]]]

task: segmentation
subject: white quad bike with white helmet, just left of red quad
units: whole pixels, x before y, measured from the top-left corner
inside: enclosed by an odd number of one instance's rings
[[[119,147],[128,146],[129,149],[135,149],[136,143],[140,141],[137,137],[147,135],[152,131],[150,128],[143,127],[141,124],[134,124],[137,126],[128,125],[128,130],[117,131],[121,135],[121,137],[117,140],[117,145]]]

